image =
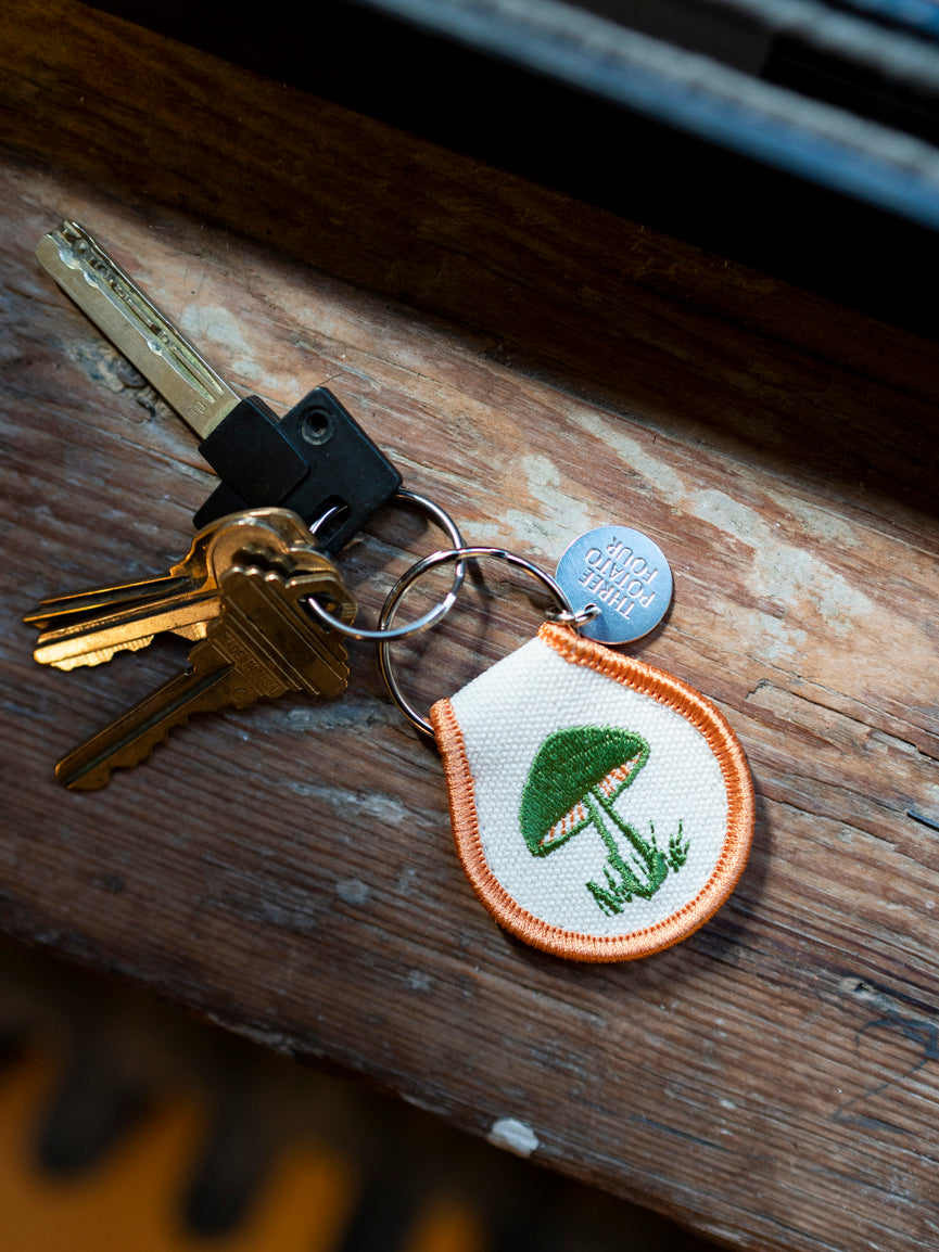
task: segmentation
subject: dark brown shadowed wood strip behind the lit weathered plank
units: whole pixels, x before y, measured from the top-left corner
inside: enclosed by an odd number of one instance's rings
[[[934,507],[939,366],[900,332],[859,334],[864,319],[806,295],[796,310],[785,284],[70,0],[5,5],[0,68],[4,133],[98,185],[454,318],[495,358],[613,408],[625,388],[671,429],[819,488]],[[780,339],[801,349],[798,378]],[[869,409],[830,362],[868,381],[881,419],[864,439]],[[724,407],[705,387],[717,364],[737,382]]]

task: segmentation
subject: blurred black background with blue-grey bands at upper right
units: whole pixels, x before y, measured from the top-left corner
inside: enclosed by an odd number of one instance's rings
[[[921,334],[928,0],[95,5]]]

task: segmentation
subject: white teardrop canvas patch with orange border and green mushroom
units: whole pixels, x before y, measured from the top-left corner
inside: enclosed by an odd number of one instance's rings
[[[631,960],[734,890],[750,771],[726,719],[680,679],[546,623],[431,721],[467,878],[526,943]]]

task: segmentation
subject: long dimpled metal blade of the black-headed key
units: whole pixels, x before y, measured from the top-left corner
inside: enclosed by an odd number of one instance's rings
[[[63,222],[36,257],[200,438],[235,407],[240,397],[84,227]]]

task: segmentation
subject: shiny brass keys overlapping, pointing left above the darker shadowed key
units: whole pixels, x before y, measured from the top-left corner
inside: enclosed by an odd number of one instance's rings
[[[219,611],[218,572],[259,552],[268,562],[279,556],[293,563],[308,553],[304,568],[332,568],[289,510],[257,508],[219,518],[198,532],[187,556],[163,577],[41,601],[24,618],[43,629],[33,655],[41,665],[73,670],[146,647],[163,631],[202,639]]]

